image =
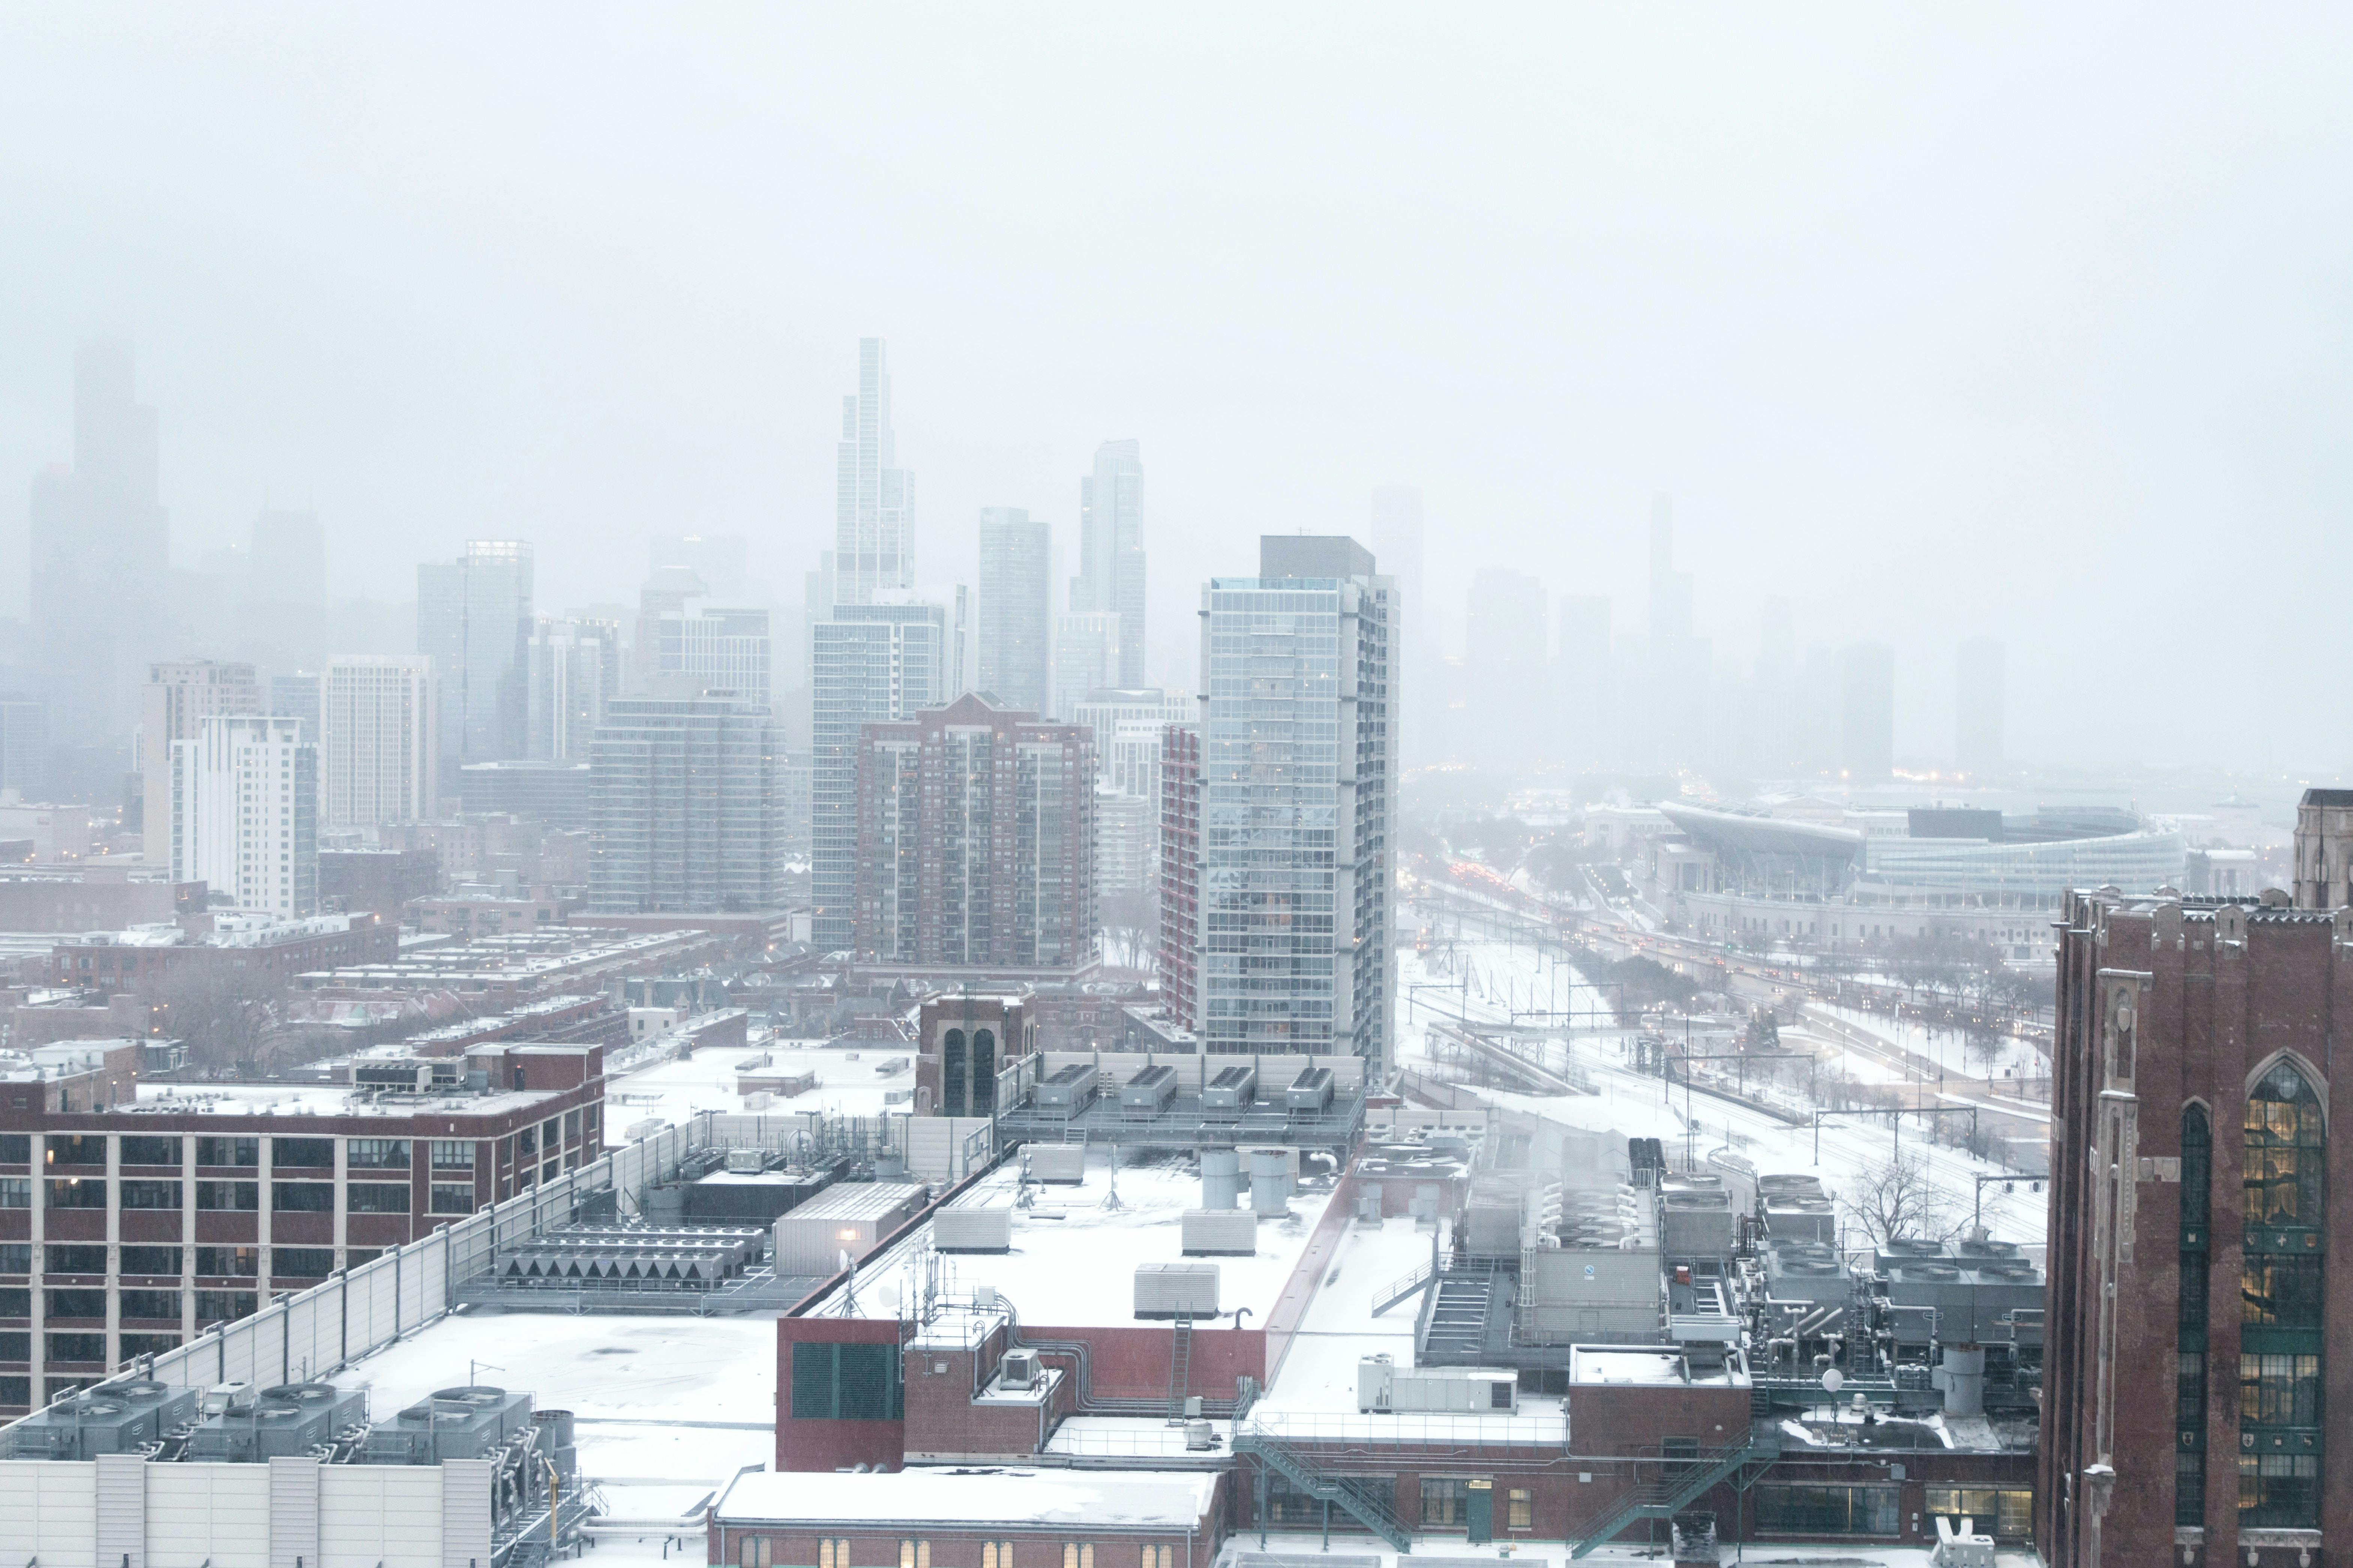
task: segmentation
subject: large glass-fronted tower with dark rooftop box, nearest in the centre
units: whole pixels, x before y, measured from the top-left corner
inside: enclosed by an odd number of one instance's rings
[[[1207,1051],[1388,1060],[1393,597],[1353,538],[1304,534],[1202,590]]]

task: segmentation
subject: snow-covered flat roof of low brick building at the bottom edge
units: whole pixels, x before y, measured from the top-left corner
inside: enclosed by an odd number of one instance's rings
[[[727,1523],[1007,1523],[1184,1530],[1209,1512],[1214,1472],[901,1469],[899,1474],[741,1476],[718,1505]]]

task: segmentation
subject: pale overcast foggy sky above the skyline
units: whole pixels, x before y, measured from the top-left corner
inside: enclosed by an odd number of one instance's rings
[[[2341,769],[2353,115],[2341,7],[0,7],[0,611],[139,348],[174,555],[264,501],[332,588],[468,536],[551,607],[656,531],[831,543],[889,339],[922,576],[1068,548],[1139,437],[1155,639],[1254,536],[1431,520],[1640,628],[2009,642],[2012,752]],[[2268,748],[2268,750],[2266,750]]]

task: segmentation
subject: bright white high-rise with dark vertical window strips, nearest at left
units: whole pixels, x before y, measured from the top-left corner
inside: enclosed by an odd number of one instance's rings
[[[301,719],[212,717],[172,743],[172,877],[240,910],[318,914],[318,745]]]

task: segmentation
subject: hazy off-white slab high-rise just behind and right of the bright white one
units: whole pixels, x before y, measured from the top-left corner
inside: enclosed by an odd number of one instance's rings
[[[327,827],[419,823],[435,813],[438,696],[424,654],[327,661],[318,701]]]

